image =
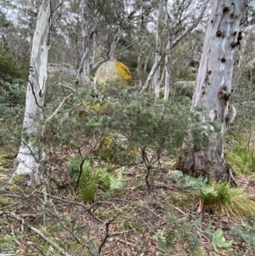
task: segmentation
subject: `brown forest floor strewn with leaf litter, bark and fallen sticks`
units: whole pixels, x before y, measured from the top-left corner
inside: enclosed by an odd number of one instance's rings
[[[8,185],[13,167],[14,156],[1,152],[0,255],[255,255],[230,230],[244,219],[203,207],[195,191],[169,179],[173,161],[150,171],[150,190],[144,165],[126,167],[121,187],[93,202],[77,198],[65,161],[36,188]],[[238,182],[255,195],[254,175]]]

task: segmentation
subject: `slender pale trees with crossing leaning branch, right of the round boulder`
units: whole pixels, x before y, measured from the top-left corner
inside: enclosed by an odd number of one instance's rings
[[[153,77],[158,77],[157,71],[163,60],[171,61],[169,53],[180,43],[184,37],[190,34],[201,22],[205,10],[207,9],[207,1],[197,2],[195,0],[175,0],[175,1],[162,1],[160,2],[158,9],[163,9],[161,17],[161,31],[157,31],[156,35],[161,35],[161,48],[156,48],[156,60],[151,67],[150,73],[147,77],[144,87],[141,92],[148,90],[150,83],[153,81]],[[158,22],[158,21],[157,21]],[[165,37],[162,37],[165,35]],[[156,42],[158,39],[156,39]],[[168,58],[165,59],[166,55]],[[166,91],[169,91],[168,82],[170,81],[169,64],[167,65],[168,73],[166,76]],[[158,79],[155,79],[158,81]],[[154,87],[154,86],[153,86]],[[157,85],[158,87],[158,85]],[[156,90],[157,91],[157,90]],[[156,94],[158,97],[158,94]],[[167,97],[166,99],[167,100]]]

